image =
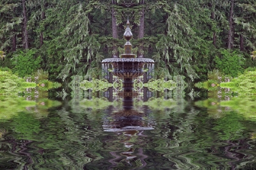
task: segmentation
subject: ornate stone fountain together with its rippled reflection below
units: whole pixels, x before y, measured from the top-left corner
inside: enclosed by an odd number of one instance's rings
[[[124,54],[119,58],[107,58],[102,60],[102,69],[108,73],[108,69],[113,69],[113,75],[123,79],[123,92],[118,95],[123,97],[123,109],[111,107],[108,111],[108,118],[104,119],[102,127],[105,132],[116,132],[123,134],[124,140],[118,141],[123,143],[126,151],[112,151],[110,154],[114,157],[109,160],[112,166],[115,167],[119,162],[129,163],[137,160],[141,163],[140,168],[146,166],[145,158],[148,156],[143,153],[143,148],[138,148],[135,141],[140,143],[138,138],[144,138],[143,132],[154,129],[154,120],[149,118],[146,110],[138,110],[133,108],[133,97],[138,95],[133,92],[133,79],[144,74],[152,72],[154,69],[154,60],[149,58],[136,58],[132,54],[132,32],[129,27],[129,20],[127,20],[126,32],[124,38]],[[138,140],[138,141],[137,141]],[[132,142],[131,142],[132,141]]]

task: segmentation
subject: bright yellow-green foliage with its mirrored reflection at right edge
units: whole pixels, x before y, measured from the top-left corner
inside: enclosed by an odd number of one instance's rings
[[[196,87],[208,90],[208,99],[197,101],[197,106],[213,109],[219,113],[220,107],[231,108],[244,117],[255,120],[256,70],[247,69],[236,78],[222,77],[218,71],[208,74],[209,80],[196,83]],[[222,107],[222,108],[224,108]]]

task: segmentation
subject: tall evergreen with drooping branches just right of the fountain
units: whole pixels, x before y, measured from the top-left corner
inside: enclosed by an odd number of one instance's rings
[[[188,3],[187,1],[185,2]],[[159,1],[163,10],[168,13],[166,35],[162,35],[156,46],[157,56],[162,56],[166,67],[173,75],[186,75],[193,81],[197,74],[190,62],[193,46],[196,43],[195,32],[190,26],[190,13],[182,1]],[[192,4],[190,4],[192,5]]]

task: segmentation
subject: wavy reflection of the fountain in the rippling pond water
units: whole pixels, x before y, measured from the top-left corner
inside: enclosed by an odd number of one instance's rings
[[[109,96],[111,97],[110,100],[112,100],[113,90],[110,89],[108,92],[110,92]],[[121,138],[121,140],[114,141],[123,144],[123,149],[110,151],[110,155],[113,158],[108,160],[111,163],[108,169],[118,166],[143,168],[147,165],[145,158],[148,158],[148,155],[144,154],[144,148],[141,147],[145,144],[143,138],[147,137],[143,132],[153,130],[155,122],[144,109],[139,110],[133,106],[133,97],[126,95],[129,92],[124,90],[122,94],[123,108],[109,107],[103,121],[102,127],[104,131],[114,132],[116,137]]]

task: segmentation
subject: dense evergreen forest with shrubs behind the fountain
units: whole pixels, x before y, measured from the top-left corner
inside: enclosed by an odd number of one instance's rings
[[[154,78],[205,81],[219,70],[255,70],[255,0],[0,0],[1,70],[37,70],[49,80],[104,78],[101,61],[123,53],[129,17],[133,53],[155,60]]]

